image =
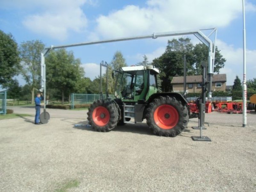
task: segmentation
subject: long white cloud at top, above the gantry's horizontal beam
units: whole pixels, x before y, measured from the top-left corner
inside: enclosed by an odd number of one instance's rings
[[[249,11],[255,6],[247,3]],[[234,0],[148,0],[145,7],[127,5],[101,15],[96,31],[104,38],[195,28],[226,27],[242,12]],[[111,29],[111,30],[106,30]]]

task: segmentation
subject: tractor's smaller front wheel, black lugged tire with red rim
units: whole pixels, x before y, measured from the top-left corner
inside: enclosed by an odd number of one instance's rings
[[[114,129],[118,122],[116,105],[109,100],[94,101],[87,115],[89,124],[98,132],[108,132]]]

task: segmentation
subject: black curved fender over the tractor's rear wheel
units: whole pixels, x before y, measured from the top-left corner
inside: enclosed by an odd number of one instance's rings
[[[166,96],[175,97],[177,100],[180,100],[182,105],[186,106],[188,108],[188,111],[189,111],[188,101],[180,93],[176,93],[176,92],[154,93],[148,98],[146,107],[145,107],[144,112],[143,112],[143,119],[145,118],[145,116],[147,114],[147,108],[148,108],[149,103],[151,103],[154,99],[156,99],[160,96],[162,96],[162,97],[166,97]]]

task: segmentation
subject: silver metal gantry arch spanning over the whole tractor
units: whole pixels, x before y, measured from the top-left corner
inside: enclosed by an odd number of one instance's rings
[[[209,35],[205,35],[203,31],[211,30]],[[210,39],[210,36],[214,34],[214,40]],[[213,63],[215,59],[215,42],[217,36],[217,29],[216,28],[206,28],[206,29],[198,29],[198,30],[186,30],[186,31],[173,31],[173,32],[163,32],[163,33],[153,33],[151,35],[144,35],[144,36],[132,36],[132,37],[124,37],[124,38],[115,38],[115,39],[107,39],[101,41],[91,41],[91,42],[84,42],[84,43],[76,43],[76,44],[67,44],[67,45],[52,45],[51,47],[46,47],[44,52],[41,53],[41,90],[44,90],[44,103],[46,101],[46,74],[45,74],[45,55],[52,49],[60,49],[60,48],[67,48],[67,47],[76,47],[76,46],[84,46],[84,45],[92,45],[92,44],[102,44],[102,43],[111,43],[111,42],[118,42],[118,41],[130,41],[130,40],[137,40],[137,39],[156,39],[158,37],[168,37],[168,36],[180,36],[180,35],[195,35],[202,43],[208,46],[208,99],[212,98],[212,75],[213,75]],[[46,112],[46,105],[44,105],[44,113]]]

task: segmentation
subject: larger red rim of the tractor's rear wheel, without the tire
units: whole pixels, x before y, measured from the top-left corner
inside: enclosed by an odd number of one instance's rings
[[[179,121],[178,111],[171,105],[161,105],[154,112],[154,121],[162,129],[172,129]]]

